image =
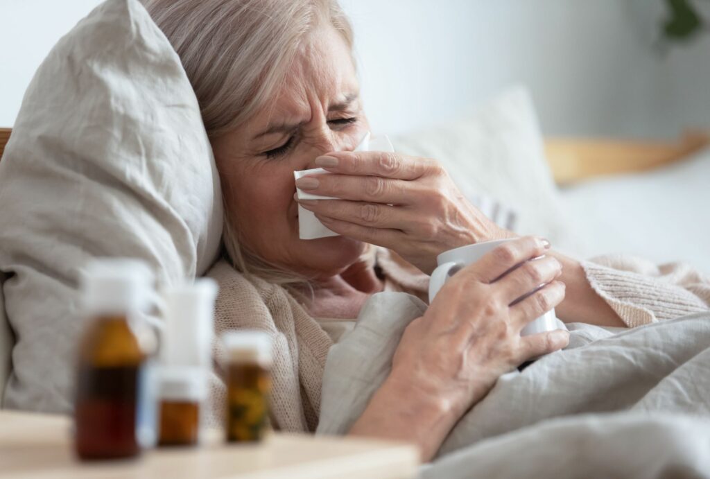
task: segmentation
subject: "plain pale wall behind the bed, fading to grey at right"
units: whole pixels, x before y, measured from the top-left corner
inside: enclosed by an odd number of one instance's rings
[[[197,0],[196,0],[197,1]],[[462,114],[528,84],[546,133],[674,136],[710,127],[710,35],[662,57],[661,0],[342,0],[373,128]],[[34,70],[99,0],[0,0],[0,126]]]

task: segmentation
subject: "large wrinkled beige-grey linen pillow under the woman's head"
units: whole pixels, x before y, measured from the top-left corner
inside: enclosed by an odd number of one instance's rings
[[[53,48],[0,162],[0,271],[17,342],[5,406],[71,408],[77,280],[97,256],[158,281],[217,255],[219,178],[180,59],[137,0],[108,0]]]

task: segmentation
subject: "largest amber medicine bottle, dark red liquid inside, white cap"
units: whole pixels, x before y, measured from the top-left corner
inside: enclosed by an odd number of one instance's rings
[[[75,450],[84,460],[141,452],[146,411],[147,309],[151,271],[136,260],[93,260],[82,275],[87,326],[80,341]],[[145,326],[147,329],[147,326]]]

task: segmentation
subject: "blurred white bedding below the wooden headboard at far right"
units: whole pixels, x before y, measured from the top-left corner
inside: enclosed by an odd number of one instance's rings
[[[652,172],[562,190],[587,258],[628,253],[710,275],[710,148]]]

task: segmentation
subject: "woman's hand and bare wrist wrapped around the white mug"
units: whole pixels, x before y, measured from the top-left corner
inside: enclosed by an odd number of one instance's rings
[[[567,346],[567,331],[520,336],[564,298],[559,261],[538,258],[547,248],[540,238],[520,238],[457,272],[405,329],[391,374],[351,434],[416,441],[427,460],[498,377]]]

